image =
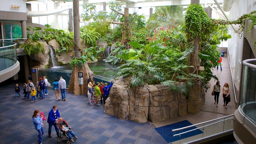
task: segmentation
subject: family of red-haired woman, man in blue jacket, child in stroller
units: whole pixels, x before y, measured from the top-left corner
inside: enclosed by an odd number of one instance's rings
[[[41,114],[42,114],[42,112],[41,112]],[[37,130],[37,132],[39,133],[39,135],[38,135],[39,144],[42,144],[42,136],[44,134],[44,124],[43,124],[43,121],[45,120],[45,118],[44,118],[45,116],[41,115],[41,114],[39,114],[39,110],[36,109],[34,111],[33,116],[32,116],[34,127]],[[59,113],[58,107],[57,107],[57,105],[53,105],[52,109],[49,111],[48,118],[47,118],[47,123],[49,124],[49,128],[48,128],[49,138],[52,137],[52,126],[54,126],[54,128],[55,128],[57,137],[60,137],[60,134],[59,134],[60,131],[59,131],[59,128],[58,128],[58,125],[57,125],[59,119],[61,119],[61,117],[60,117],[60,113]],[[62,128],[63,128],[62,130],[64,132],[67,132],[67,128],[66,127],[62,126]],[[69,137],[71,142],[74,142],[74,140],[72,140],[72,136],[74,138],[78,139],[76,137],[76,135],[73,132],[71,132],[71,131],[67,132],[67,135],[68,135],[68,137]]]

